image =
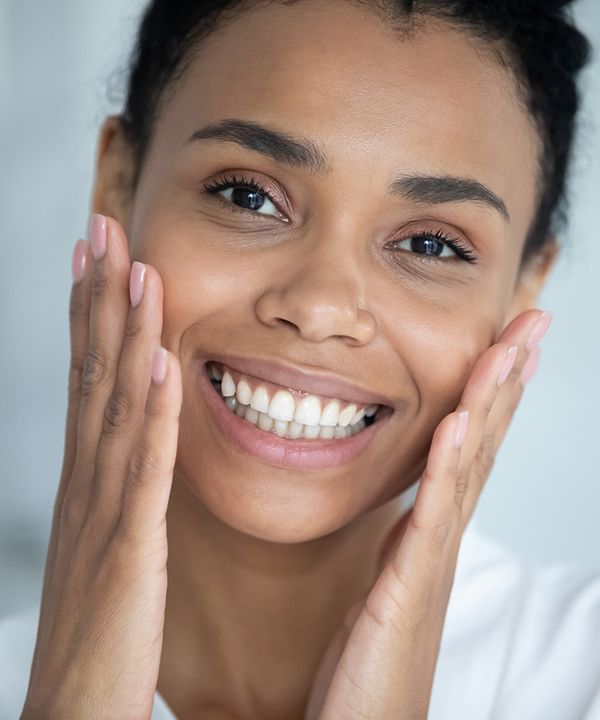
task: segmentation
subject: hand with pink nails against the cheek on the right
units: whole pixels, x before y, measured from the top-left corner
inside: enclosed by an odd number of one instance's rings
[[[460,542],[537,366],[551,319],[541,315],[528,310],[510,323],[436,428],[414,507],[388,534],[380,574],[324,654],[305,720],[427,718]]]

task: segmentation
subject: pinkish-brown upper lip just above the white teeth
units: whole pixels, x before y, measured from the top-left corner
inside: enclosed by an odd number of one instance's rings
[[[259,360],[236,355],[211,357],[207,362],[220,362],[233,370],[267,380],[275,385],[315,395],[339,398],[365,405],[391,405],[390,398],[354,385],[338,375],[317,374],[273,359]]]

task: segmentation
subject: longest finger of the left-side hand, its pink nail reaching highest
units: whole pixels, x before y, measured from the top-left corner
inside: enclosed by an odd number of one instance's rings
[[[116,221],[94,215],[90,223],[94,263],[88,346],[81,372],[77,448],[63,515],[68,524],[85,518],[94,476],[104,409],[112,391],[129,305],[129,252]]]

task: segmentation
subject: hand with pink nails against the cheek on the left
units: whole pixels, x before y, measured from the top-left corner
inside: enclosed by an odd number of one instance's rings
[[[64,459],[21,720],[148,719],[158,681],[181,370],[153,355],[158,272],[130,266],[115,220],[94,216],[90,234],[73,255],[74,279],[82,260],[84,272],[71,291]]]

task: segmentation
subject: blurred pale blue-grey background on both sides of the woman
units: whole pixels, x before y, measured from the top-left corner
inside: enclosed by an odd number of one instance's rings
[[[141,0],[0,0],[0,617],[39,602],[61,470],[71,252],[87,237],[98,127],[120,110]],[[577,4],[600,49],[600,2]],[[600,60],[584,108],[554,312],[480,500],[533,562],[600,569]]]

